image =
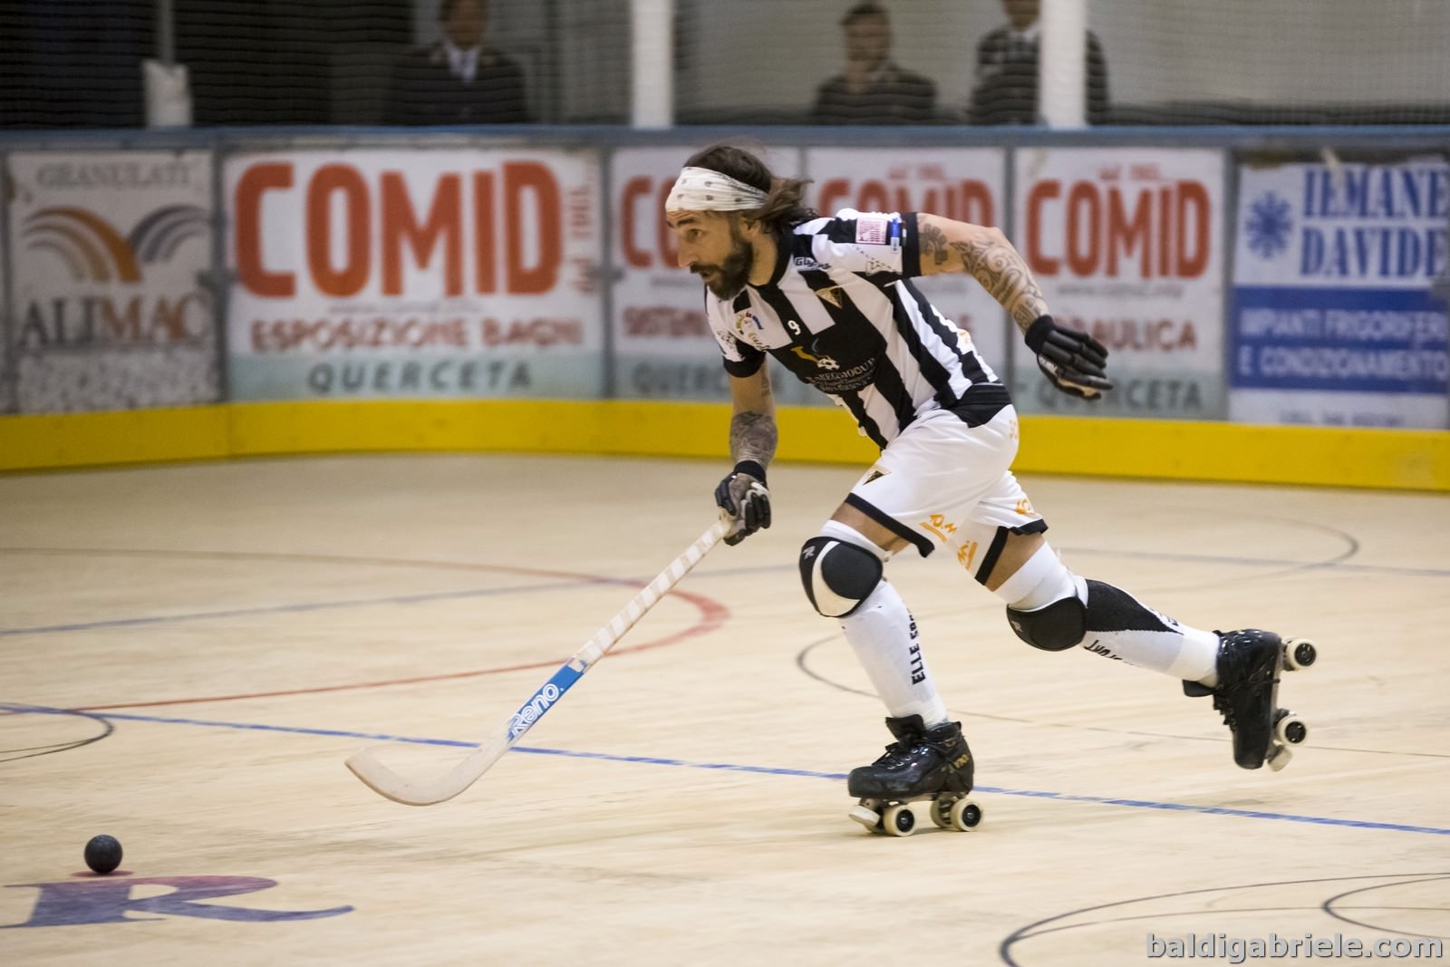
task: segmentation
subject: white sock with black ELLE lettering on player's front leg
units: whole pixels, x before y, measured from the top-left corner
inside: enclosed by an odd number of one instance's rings
[[[841,619],[841,631],[893,719],[919,715],[928,726],[947,721],[947,706],[921,654],[916,622],[895,587],[884,580],[877,584]]]

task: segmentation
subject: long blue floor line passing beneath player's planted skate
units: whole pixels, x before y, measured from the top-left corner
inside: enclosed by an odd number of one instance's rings
[[[54,709],[45,706],[29,706],[29,705],[9,705],[0,703],[0,710],[7,712],[33,712],[42,715],[71,715],[68,709]],[[102,719],[117,719],[125,722],[157,722],[161,725],[200,725],[206,728],[218,729],[244,729],[257,732],[289,732],[293,735],[325,735],[329,738],[351,738],[362,739],[368,742],[406,742],[410,745],[444,745],[450,748],[473,748],[474,742],[461,742],[458,739],[428,739],[428,738],[413,738],[407,735],[387,735],[381,732],[354,732],[348,729],[316,729],[303,726],[289,726],[289,725],[262,725],[254,722],[215,722],[209,719],[177,719],[160,715],[129,715],[119,712],[93,712],[96,718]],[[845,779],[844,773],[819,773],[805,768],[771,768],[768,765],[741,765],[738,763],[693,763],[683,758],[658,758],[652,755],[616,755],[610,752],[576,752],[570,750],[557,748],[534,748],[526,745],[515,745],[515,752],[525,752],[529,755],[564,755],[568,758],[594,758],[608,763],[637,763],[644,765],[673,765],[680,768],[709,768],[731,773],[751,773],[757,776],[796,776],[800,779],[828,779],[832,781],[842,781]],[[1114,796],[1074,796],[1070,793],[1054,793],[1032,789],[1005,789],[1002,786],[977,786],[974,793],[983,793],[989,796],[1022,796],[1027,799],[1051,799],[1056,802],[1069,803],[1090,803],[1098,806],[1125,806],[1128,809],[1159,809],[1164,812],[1195,812],[1205,813],[1209,816],[1237,816],[1240,819],[1273,819],[1277,822],[1306,822],[1318,826],[1347,826],[1351,829],[1380,829],[1386,832],[1420,832],[1434,837],[1450,837],[1450,829],[1440,826],[1411,826],[1398,822],[1370,822],[1363,819],[1334,819],[1330,816],[1301,816],[1296,813],[1282,813],[1282,812],[1264,812],[1257,809],[1231,809],[1228,806],[1198,806],[1193,803],[1169,803],[1157,802],[1153,799],[1121,799]]]

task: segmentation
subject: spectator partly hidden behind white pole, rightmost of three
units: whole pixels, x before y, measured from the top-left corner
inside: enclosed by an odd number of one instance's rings
[[[973,125],[1035,125],[1037,59],[1043,28],[1038,0],[1002,0],[1008,25],[992,30],[977,45],[977,83],[967,119]],[[1108,61],[1102,43],[1088,33],[1089,125],[1108,120]]]

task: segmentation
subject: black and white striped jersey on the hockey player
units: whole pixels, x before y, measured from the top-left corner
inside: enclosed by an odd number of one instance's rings
[[[757,373],[768,352],[883,448],[928,410],[976,426],[1011,403],[972,336],[911,283],[921,274],[915,213],[842,209],[777,241],[768,283],[732,300],[705,293],[729,374]]]

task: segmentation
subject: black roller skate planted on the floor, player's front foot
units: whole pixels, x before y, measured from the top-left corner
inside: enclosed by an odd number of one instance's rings
[[[871,763],[853,768],[847,792],[860,797],[851,819],[871,832],[909,837],[916,815],[909,803],[931,800],[931,818],[942,829],[974,829],[982,808],[972,793],[972,751],[960,722],[925,728],[919,715],[886,719],[896,741]]]

